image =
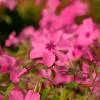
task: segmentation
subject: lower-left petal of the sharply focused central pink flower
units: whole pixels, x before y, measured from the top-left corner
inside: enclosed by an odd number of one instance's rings
[[[30,58],[35,59],[35,58],[40,58],[43,56],[43,49],[32,49],[30,52]]]

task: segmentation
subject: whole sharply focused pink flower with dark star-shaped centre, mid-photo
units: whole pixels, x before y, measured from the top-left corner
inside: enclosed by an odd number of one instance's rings
[[[48,67],[52,66],[56,57],[62,62],[66,62],[66,55],[61,51],[67,50],[67,44],[60,44],[62,32],[51,33],[47,36],[40,36],[33,40],[33,49],[30,52],[30,58],[42,58],[43,64]],[[60,44],[60,45],[59,45]],[[62,57],[63,56],[63,57]],[[60,59],[61,58],[61,59]]]

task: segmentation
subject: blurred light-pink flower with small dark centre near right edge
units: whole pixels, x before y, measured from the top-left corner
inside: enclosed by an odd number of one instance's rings
[[[100,37],[100,31],[96,28],[91,18],[83,21],[76,31],[76,43],[82,46],[91,45],[94,40]]]

